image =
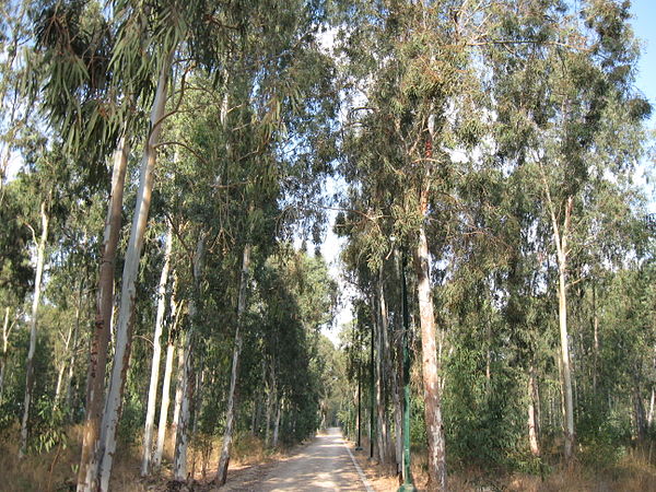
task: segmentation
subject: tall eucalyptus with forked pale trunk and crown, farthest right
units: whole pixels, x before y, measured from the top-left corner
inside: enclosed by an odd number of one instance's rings
[[[528,34],[531,43],[512,56],[492,54],[501,61],[494,68],[497,141],[506,162],[532,169],[534,186],[542,194],[540,220],[549,224],[555,249],[564,454],[570,459],[575,438],[567,328],[571,260],[588,247],[590,197],[608,175],[621,179],[635,162],[640,120],[649,107],[632,89],[637,49],[628,4],[590,1],[571,12],[560,2],[541,5],[547,19],[558,23],[540,21],[531,9],[527,5],[515,24],[502,25],[500,32],[509,40]],[[617,134],[623,143],[618,144]]]

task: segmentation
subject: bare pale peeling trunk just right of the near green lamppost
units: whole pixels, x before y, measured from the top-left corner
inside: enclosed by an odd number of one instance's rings
[[[419,243],[414,248],[414,269],[417,272],[417,294],[421,326],[422,372],[424,389],[424,417],[429,438],[429,489],[446,490],[446,459],[444,430],[442,427],[442,407],[440,390],[440,366],[435,318],[433,314],[433,293],[430,281],[430,258],[426,233],[422,223],[419,229]]]

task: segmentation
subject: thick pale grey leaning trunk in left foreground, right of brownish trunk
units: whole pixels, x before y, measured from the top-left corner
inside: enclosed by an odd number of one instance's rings
[[[116,452],[116,430],[120,415],[124,386],[128,371],[131,349],[131,324],[134,311],[134,301],[137,295],[136,281],[139,273],[139,262],[141,260],[141,250],[143,248],[143,236],[148,223],[148,214],[151,203],[151,195],[154,185],[154,171],[156,164],[157,151],[155,145],[162,131],[162,118],[166,106],[166,91],[168,85],[168,71],[171,70],[172,56],[162,67],[155,91],[155,99],[150,119],[150,133],[145,142],[145,150],[141,163],[141,175],[139,180],[139,190],[137,192],[137,203],[134,206],[134,216],[130,230],[130,239],[126,250],[126,262],[122,272],[122,284],[120,292],[120,308],[118,312],[118,321],[116,326],[116,347],[114,350],[114,363],[107,391],[107,401],[103,412],[102,426],[102,459],[99,469],[101,490],[109,489],[109,477],[114,462],[114,453]]]

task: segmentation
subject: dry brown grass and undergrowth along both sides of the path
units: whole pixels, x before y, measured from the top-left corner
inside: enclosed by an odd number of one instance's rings
[[[80,426],[72,426],[67,433],[66,446],[58,446],[48,453],[32,454],[20,461],[17,455],[17,429],[5,432],[0,438],[0,491],[68,491],[74,490],[74,477],[80,453]],[[190,487],[179,489],[168,483],[171,478],[171,444],[164,454],[164,466],[153,478],[139,477],[141,453],[138,446],[122,447],[117,455],[112,475],[112,490],[116,492],[156,492],[172,490],[209,491],[215,488],[211,480],[215,473],[219,459],[220,440],[197,442],[189,453],[188,469],[195,480]],[[396,491],[399,485],[394,470],[385,468],[367,459],[368,443],[363,441],[364,450],[353,455],[367,476],[372,487],[379,492]],[[211,450],[209,450],[211,449]],[[209,450],[209,452],[208,452]],[[296,448],[270,452],[261,440],[249,434],[238,436],[234,446],[234,458],[231,461],[229,483],[224,490],[244,490],[267,472],[267,470]],[[471,467],[467,470],[453,471],[449,475],[449,489],[454,492],[469,491],[656,491],[656,467],[649,464],[648,452],[636,450],[625,454],[618,464],[602,469],[573,466],[570,469],[552,468],[542,480],[539,476],[528,473],[490,473]],[[653,457],[652,457],[653,458]],[[413,476],[420,490],[426,490],[427,475],[425,456],[413,454]],[[253,489],[256,490],[256,489]]]

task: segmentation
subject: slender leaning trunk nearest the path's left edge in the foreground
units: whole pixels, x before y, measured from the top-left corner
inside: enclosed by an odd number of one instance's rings
[[[237,327],[235,329],[235,345],[233,349],[232,373],[230,377],[230,393],[227,394],[227,410],[225,414],[225,432],[223,433],[223,443],[221,446],[221,458],[219,459],[219,470],[216,472],[216,482],[219,485],[225,484],[227,479],[227,465],[230,462],[230,448],[232,445],[234,420],[235,420],[235,394],[237,388],[237,374],[239,370],[239,354],[242,353],[242,324],[244,312],[246,309],[246,290],[248,286],[248,276],[250,273],[250,245],[244,246],[242,259],[242,276],[239,279],[239,295],[237,298]]]

